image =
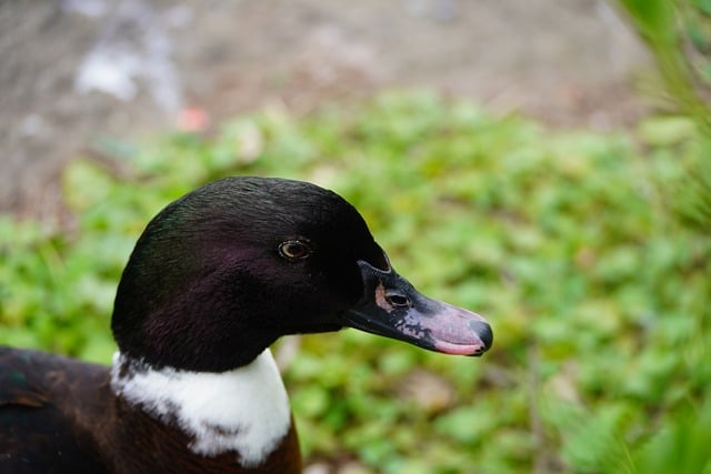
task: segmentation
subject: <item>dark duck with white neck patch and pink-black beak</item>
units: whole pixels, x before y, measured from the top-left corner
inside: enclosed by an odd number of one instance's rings
[[[420,293],[337,193],[231,177],[168,204],[122,272],[99,365],[0,347],[0,472],[301,472],[270,345],[354,327],[444,354],[492,345]]]

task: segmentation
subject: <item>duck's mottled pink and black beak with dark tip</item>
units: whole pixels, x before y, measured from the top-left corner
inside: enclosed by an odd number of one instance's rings
[[[491,326],[479,314],[424,296],[392,266],[358,265],[364,294],[346,311],[344,325],[444,354],[481,355],[491,347]]]

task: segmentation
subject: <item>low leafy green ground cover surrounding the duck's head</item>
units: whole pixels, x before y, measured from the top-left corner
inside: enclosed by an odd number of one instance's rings
[[[154,213],[228,174],[306,179],[351,201],[420,290],[495,335],[482,359],[353,330],[301,337],[284,379],[307,460],[711,473],[711,242],[678,219],[698,135],[680,118],[554,131],[412,92],[104,141],[102,159],[66,170],[69,224],[0,219],[0,343],[108,363],[114,288]]]

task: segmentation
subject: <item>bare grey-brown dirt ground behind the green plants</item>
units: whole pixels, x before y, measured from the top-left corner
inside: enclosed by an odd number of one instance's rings
[[[0,211],[51,218],[67,160],[190,107],[216,122],[428,87],[609,129],[643,112],[648,67],[603,0],[0,1]]]

